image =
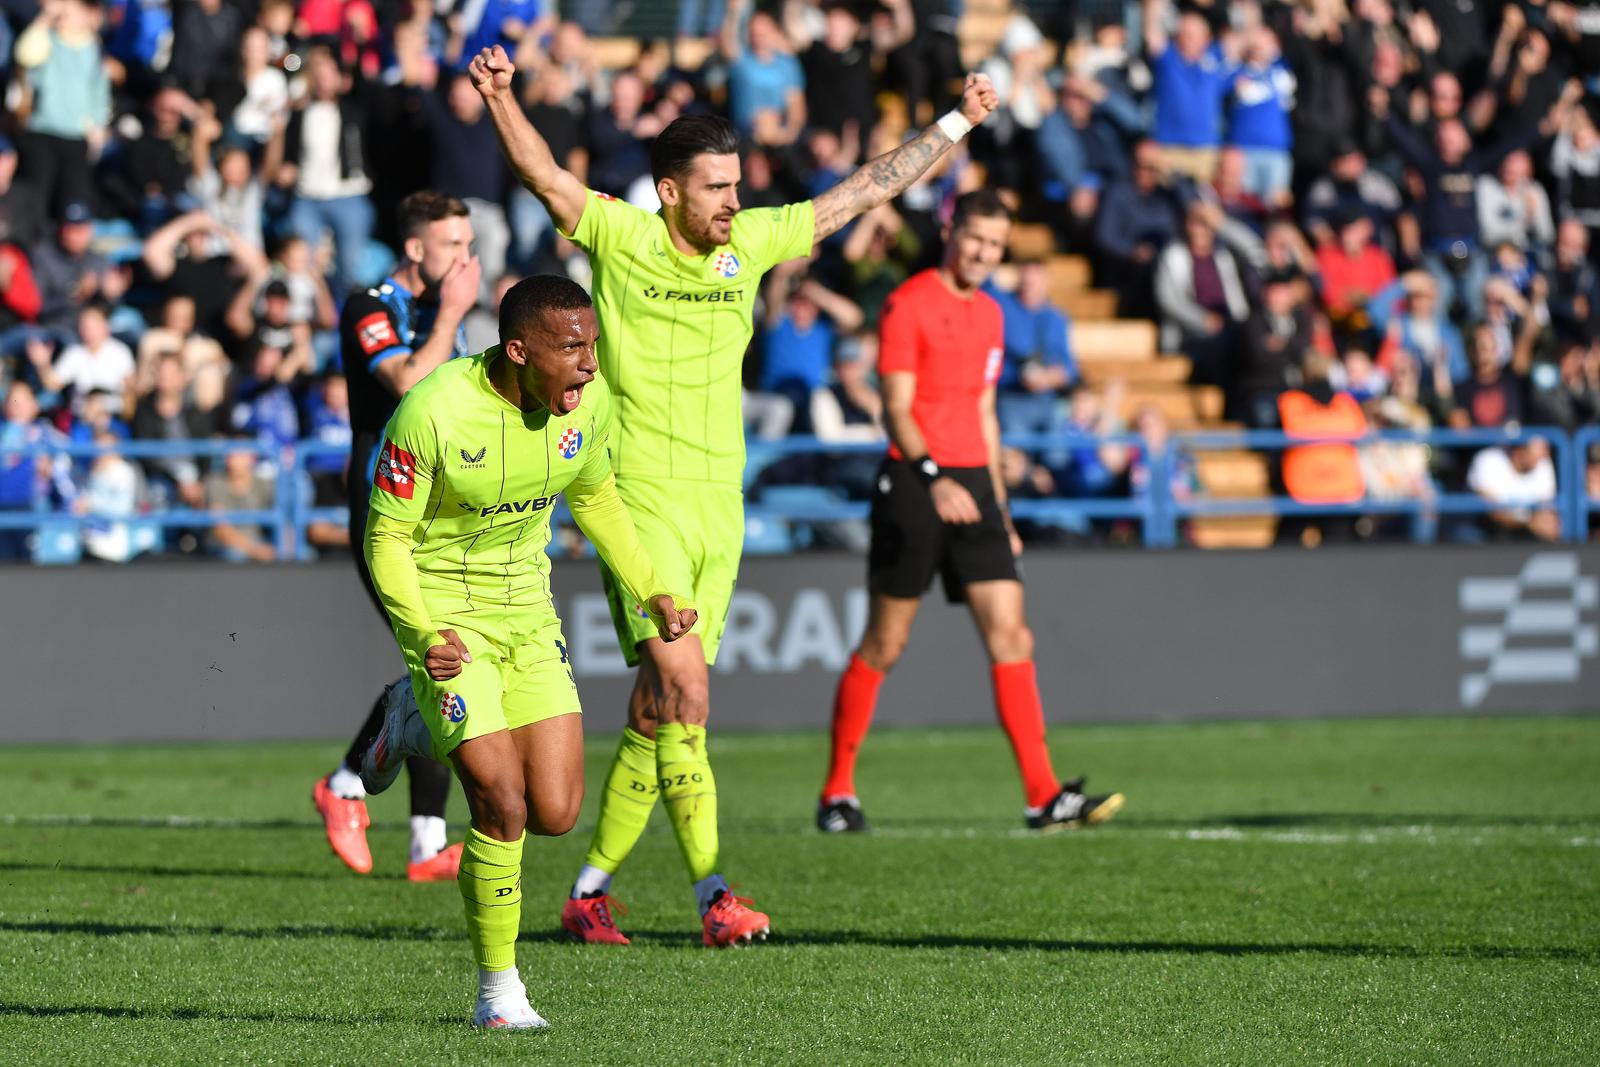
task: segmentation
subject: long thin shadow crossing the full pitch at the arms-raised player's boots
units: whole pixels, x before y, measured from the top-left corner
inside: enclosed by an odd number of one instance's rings
[[[88,937],[165,936],[165,937],[238,937],[246,941],[294,941],[294,939],[358,939],[358,941],[411,941],[453,942],[466,941],[466,931],[440,926],[331,926],[314,923],[286,923],[278,926],[170,926],[158,923],[106,923],[0,920],[0,933],[53,934]],[[638,944],[662,949],[698,947],[699,934],[682,929],[629,931]],[[518,944],[563,944],[560,931],[522,931]],[[854,929],[782,929],[773,936],[771,947],[874,947],[874,949],[971,949],[978,952],[1083,952],[1098,955],[1197,955],[1197,957],[1365,957],[1400,960],[1563,960],[1578,963],[1600,961],[1600,945],[1571,947],[1517,947],[1517,945],[1384,945],[1373,942],[1288,941],[1094,941],[1054,937],[986,937],[968,934],[874,934]]]

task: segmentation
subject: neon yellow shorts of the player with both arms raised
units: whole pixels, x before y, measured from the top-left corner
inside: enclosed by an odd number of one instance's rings
[[[739,577],[744,552],[744,491],[704,482],[621,480],[616,483],[638,541],[650,553],[656,573],[675,597],[688,597],[699,613],[690,630],[706,649],[706,662],[717,662],[717,646],[728,624],[728,603]],[[606,601],[616,641],[629,667],[638,665],[638,645],[656,633],[650,616],[622,592],[602,563]]]

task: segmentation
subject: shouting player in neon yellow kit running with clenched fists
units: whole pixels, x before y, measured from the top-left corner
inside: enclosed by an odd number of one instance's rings
[[[450,760],[472,829],[456,885],[478,965],[480,1027],[539,1029],[517,976],[525,832],[573,829],[582,718],[550,598],[550,507],[579,528],[656,633],[696,622],[658,576],[611,477],[613,398],[589,294],[558,275],[501,302],[501,344],[413,387],[389,421],[363,550],[411,677],[362,757],[368,792],[405,760]]]

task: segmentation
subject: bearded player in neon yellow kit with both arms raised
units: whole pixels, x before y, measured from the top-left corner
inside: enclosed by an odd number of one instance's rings
[[[744,547],[741,363],[762,275],[805,256],[862,211],[898,197],[998,104],[970,75],[958,110],[869,162],[816,200],[739,211],[738,136],[722,118],[683,117],[654,139],[651,214],[584,189],[562,170],[512,93],[515,69],[486,48],[470,75],[517,178],[562,234],[589,253],[600,314],[600,370],[616,394],[618,491],[667,582],[701,613],[698,635],[661,641],[605,571],[611,616],[638,665],[629,723],[606,776],[600,822],[562,925],[584,941],[627,944],[610,909],[611,877],[659,798],[694,883],[707,945],[765,936],[768,917],[722,877],[717,785],[706,752],[709,670]],[[688,589],[680,589],[688,584]]]

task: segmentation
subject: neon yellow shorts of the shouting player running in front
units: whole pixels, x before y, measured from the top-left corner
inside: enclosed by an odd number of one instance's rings
[[[462,664],[461,673],[448,681],[434,681],[421,662],[406,657],[422,721],[434,737],[434,758],[445,760],[462,741],[496,729],[582,710],[562,621],[555,616],[534,622],[531,632],[483,616],[445,616],[434,619],[434,625],[454,630],[472,654],[472,662]]]

